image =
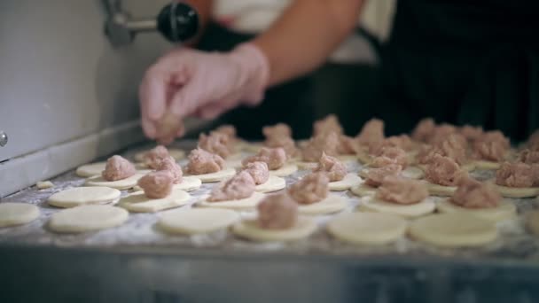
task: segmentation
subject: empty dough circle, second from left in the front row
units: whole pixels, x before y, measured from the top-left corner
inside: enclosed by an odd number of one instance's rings
[[[57,232],[110,229],[128,219],[125,209],[114,206],[77,206],[52,214],[49,228]]]

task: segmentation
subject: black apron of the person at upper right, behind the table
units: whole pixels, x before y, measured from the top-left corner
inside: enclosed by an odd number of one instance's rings
[[[534,1],[397,2],[383,51],[376,115],[387,133],[438,122],[539,128],[539,5]]]

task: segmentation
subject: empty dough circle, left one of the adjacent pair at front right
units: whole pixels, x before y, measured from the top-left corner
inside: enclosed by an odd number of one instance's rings
[[[328,221],[326,229],[343,242],[360,245],[385,245],[406,233],[408,222],[394,214],[340,214]]]

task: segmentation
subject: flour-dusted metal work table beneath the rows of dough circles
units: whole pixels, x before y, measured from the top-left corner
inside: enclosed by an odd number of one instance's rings
[[[122,154],[129,158],[134,151]],[[288,177],[287,183],[305,173]],[[253,243],[224,230],[170,236],[154,226],[160,213],[130,214],[115,229],[60,235],[46,228],[48,217],[59,209],[45,200],[83,179],[72,171],[51,181],[54,188],[28,188],[2,199],[38,205],[42,215],[27,225],[0,229],[0,301],[539,300],[539,237],[527,233],[522,215],[500,224],[495,243],[475,249],[441,249],[408,238],[393,245],[347,245],[324,231],[332,215],[319,217],[315,235],[291,244]],[[191,192],[192,201],[212,186]],[[359,203],[348,192],[340,194],[349,200],[345,212]],[[537,206],[535,199],[515,203],[520,214]]]

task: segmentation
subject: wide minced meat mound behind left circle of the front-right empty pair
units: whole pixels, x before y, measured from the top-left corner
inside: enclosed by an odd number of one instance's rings
[[[376,198],[402,205],[416,204],[426,197],[428,190],[425,184],[396,175],[384,178],[376,192]]]

